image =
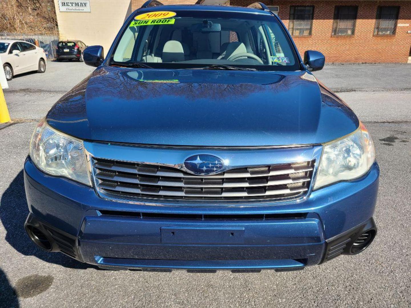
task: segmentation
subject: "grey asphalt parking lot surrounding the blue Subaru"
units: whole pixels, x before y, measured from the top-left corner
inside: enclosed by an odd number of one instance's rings
[[[356,111],[376,145],[372,246],[304,271],[255,274],[106,271],[32,244],[22,174],[32,131],[92,70],[48,62],[45,74],[16,76],[4,91],[14,122],[0,124],[0,307],[411,306],[411,64],[330,64],[315,74]]]

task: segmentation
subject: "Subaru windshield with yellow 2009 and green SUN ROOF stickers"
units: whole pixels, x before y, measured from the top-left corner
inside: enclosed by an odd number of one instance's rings
[[[111,61],[155,68],[299,69],[291,42],[274,16],[226,11],[138,12]]]

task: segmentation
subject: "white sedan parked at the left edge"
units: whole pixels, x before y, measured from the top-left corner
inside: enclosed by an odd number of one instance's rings
[[[44,49],[26,41],[0,39],[0,57],[7,80],[29,71],[46,71]]]

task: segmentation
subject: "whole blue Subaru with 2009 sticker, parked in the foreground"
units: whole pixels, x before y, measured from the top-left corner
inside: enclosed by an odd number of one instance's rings
[[[291,271],[365,250],[379,167],[353,111],[269,9],[162,5],[127,18],[39,122],[29,237],[105,269]]]

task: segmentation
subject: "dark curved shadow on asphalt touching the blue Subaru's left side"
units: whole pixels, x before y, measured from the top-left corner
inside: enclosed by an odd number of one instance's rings
[[[28,212],[24,191],[23,170],[21,170],[1,196],[0,219],[6,230],[6,241],[19,253],[23,255],[33,255],[49,263],[72,269],[98,269],[98,267],[81,263],[62,253],[49,253],[38,248],[29,239],[24,230],[24,223]]]

